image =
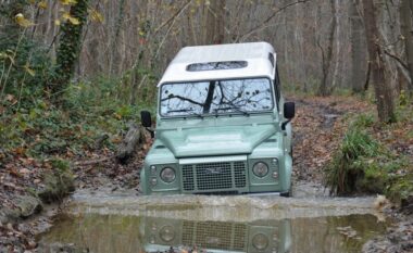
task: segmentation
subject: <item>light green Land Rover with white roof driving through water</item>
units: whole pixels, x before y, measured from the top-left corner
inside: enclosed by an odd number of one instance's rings
[[[158,87],[143,194],[289,195],[295,103],[280,93],[271,45],[184,48]],[[150,130],[149,112],[141,121]]]

